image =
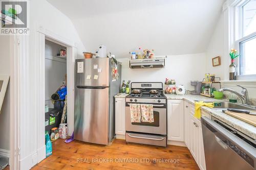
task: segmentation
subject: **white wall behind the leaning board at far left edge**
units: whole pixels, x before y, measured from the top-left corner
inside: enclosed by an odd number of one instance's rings
[[[10,75],[10,37],[0,36],[0,75]],[[1,150],[10,151],[10,82],[0,114],[0,155]]]

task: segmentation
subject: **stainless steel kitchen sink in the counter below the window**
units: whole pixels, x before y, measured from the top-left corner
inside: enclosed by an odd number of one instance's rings
[[[201,100],[196,100],[195,102],[200,102]],[[231,102],[216,102],[216,101],[203,101],[204,103],[214,103],[214,108],[212,109],[242,109],[242,110],[255,110],[256,108]]]

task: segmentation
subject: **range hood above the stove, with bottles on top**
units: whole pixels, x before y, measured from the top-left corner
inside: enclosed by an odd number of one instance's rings
[[[129,60],[130,68],[163,68],[166,58]]]

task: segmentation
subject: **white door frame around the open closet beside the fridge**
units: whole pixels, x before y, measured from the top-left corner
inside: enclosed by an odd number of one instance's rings
[[[36,113],[45,113],[45,40],[67,46],[67,123],[69,135],[74,130],[74,66],[77,55],[76,44],[51,31],[38,27],[36,31],[36,68],[37,68],[37,90],[36,91]],[[46,158],[45,150],[45,114],[37,114],[37,162]]]

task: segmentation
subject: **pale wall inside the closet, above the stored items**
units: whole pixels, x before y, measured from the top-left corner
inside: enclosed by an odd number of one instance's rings
[[[45,97],[46,97],[46,105],[49,108],[53,108],[53,103],[51,101],[51,95],[61,86],[63,85],[63,81],[65,80],[65,74],[67,74],[67,60],[59,59],[56,56],[59,53],[60,45],[46,41],[46,59],[45,59],[45,70],[46,70],[46,89],[45,89]]]

